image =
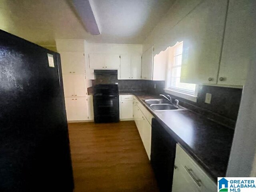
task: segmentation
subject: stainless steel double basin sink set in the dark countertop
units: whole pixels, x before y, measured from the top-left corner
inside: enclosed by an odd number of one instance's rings
[[[186,110],[185,108],[173,105],[170,101],[164,99],[146,99],[144,102],[154,111]]]

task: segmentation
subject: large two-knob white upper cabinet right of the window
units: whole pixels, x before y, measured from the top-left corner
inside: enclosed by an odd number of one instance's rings
[[[210,5],[213,4],[210,10]],[[204,12],[205,6],[209,12]],[[186,28],[181,82],[242,86],[256,48],[256,23],[250,0],[205,1],[177,28]],[[201,13],[201,18],[199,18]],[[204,18],[208,15],[208,22]],[[211,15],[211,17],[209,17]],[[196,21],[196,22],[195,22]],[[225,24],[226,22],[226,24]],[[196,27],[196,24],[200,24]],[[176,30],[175,30],[176,31]]]

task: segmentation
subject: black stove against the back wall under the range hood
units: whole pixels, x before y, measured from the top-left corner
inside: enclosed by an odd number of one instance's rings
[[[118,85],[95,85],[93,109],[95,123],[119,122]]]

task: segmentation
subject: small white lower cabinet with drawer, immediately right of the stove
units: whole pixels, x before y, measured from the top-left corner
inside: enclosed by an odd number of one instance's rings
[[[132,99],[132,95],[119,96],[120,120],[133,119]]]

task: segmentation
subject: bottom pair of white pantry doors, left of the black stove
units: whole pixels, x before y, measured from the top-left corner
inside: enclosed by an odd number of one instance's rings
[[[65,103],[68,121],[88,120],[86,97],[66,97]]]

